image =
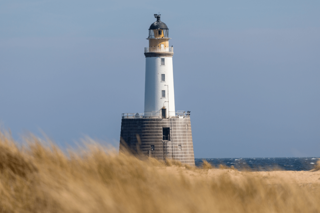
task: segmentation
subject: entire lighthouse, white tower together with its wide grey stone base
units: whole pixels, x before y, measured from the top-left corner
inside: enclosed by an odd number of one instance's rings
[[[190,112],[175,111],[169,28],[154,14],[148,29],[144,113],[123,113],[119,150],[195,165]]]

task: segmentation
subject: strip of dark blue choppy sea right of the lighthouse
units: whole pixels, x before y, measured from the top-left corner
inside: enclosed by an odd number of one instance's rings
[[[253,158],[196,158],[196,166],[201,166],[205,159],[213,166],[224,164],[234,166],[236,169],[263,170],[288,170],[308,171],[314,169],[318,157],[253,157]]]

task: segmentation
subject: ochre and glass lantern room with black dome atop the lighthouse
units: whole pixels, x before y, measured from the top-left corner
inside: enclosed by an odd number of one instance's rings
[[[154,14],[157,19],[149,27],[149,47],[169,47],[169,29],[160,21],[160,14]]]

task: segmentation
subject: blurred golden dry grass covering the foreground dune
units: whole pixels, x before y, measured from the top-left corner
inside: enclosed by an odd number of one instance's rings
[[[320,187],[299,186],[221,166],[138,160],[97,144],[68,156],[29,137],[0,136],[1,212],[319,212]],[[319,168],[318,164],[318,168]],[[211,170],[210,170],[211,169]],[[238,179],[230,178],[233,173]],[[238,175],[238,176],[237,176]],[[271,182],[270,182],[271,181]]]

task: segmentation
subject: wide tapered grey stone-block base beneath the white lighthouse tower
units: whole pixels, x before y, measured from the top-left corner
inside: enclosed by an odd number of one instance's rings
[[[123,118],[120,148],[139,156],[195,165],[190,117]]]

